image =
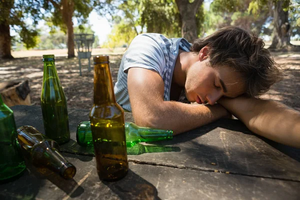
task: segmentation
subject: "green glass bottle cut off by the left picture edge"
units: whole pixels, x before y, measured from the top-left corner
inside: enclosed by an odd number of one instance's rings
[[[17,148],[17,132],[12,110],[0,96],[0,180],[20,174],[25,168]]]

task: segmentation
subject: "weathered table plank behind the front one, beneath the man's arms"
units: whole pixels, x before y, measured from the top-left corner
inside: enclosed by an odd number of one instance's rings
[[[32,125],[43,132],[41,110],[36,106],[14,106],[18,126]],[[77,124],[88,120],[86,109],[70,109],[71,141],[61,146],[66,152],[92,155],[92,147],[76,143]],[[132,121],[130,113],[126,121]],[[180,152],[129,155],[130,161],[207,171],[273,177],[300,181],[300,149],[253,135],[239,120],[220,119],[206,126],[155,144],[177,146]],[[215,165],[214,165],[215,163]]]

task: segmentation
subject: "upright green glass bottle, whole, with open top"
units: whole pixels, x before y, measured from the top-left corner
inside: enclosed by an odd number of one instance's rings
[[[40,104],[45,135],[58,144],[63,144],[70,139],[66,99],[57,75],[54,55],[42,57],[43,78]]]

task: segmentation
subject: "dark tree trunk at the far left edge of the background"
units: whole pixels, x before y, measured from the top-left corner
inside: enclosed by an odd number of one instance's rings
[[[6,20],[0,23],[0,58],[13,58],[10,53],[11,38],[9,24]]]

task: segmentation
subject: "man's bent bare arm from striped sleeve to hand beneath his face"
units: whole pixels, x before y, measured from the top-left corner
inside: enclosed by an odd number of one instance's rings
[[[128,93],[134,121],[139,126],[171,129],[178,134],[227,116],[221,105],[186,104],[164,101],[164,84],[153,70],[128,70]]]

